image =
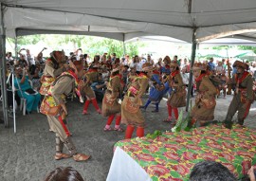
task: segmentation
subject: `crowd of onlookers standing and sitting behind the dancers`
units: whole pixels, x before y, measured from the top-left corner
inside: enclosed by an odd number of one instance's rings
[[[10,66],[15,65],[15,67],[20,67],[21,69],[26,69],[27,82],[30,83],[31,88],[35,91],[38,91],[41,86],[41,77],[44,73],[44,67],[46,64],[46,58],[44,58],[43,53],[46,47],[44,47],[37,56],[31,55],[29,49],[22,48],[19,50],[18,58],[14,58],[11,52],[6,54],[6,61],[7,61],[7,76],[10,73]],[[48,56],[49,57],[49,56]],[[100,73],[100,77],[98,81],[95,81],[91,84],[92,89],[96,94],[97,100],[102,100],[104,90],[106,89],[106,81],[108,81],[110,76],[110,71],[112,70],[112,65],[119,63],[121,64],[121,75],[122,80],[125,84],[129,82],[129,78],[135,76],[139,71],[142,69],[142,64],[144,63],[151,63],[156,70],[158,70],[162,77],[170,74],[168,70],[168,62],[166,59],[158,58],[157,60],[153,60],[150,54],[138,56],[135,55],[130,57],[129,55],[125,55],[122,58],[117,57],[116,53],[108,54],[104,53],[102,55],[97,55],[97,59],[91,59],[88,54],[82,54],[82,49],[79,48],[74,52],[70,52],[69,55],[66,56],[67,63],[69,61],[76,62],[81,61],[83,69],[88,69],[90,64],[98,64],[99,68],[98,71]],[[181,76],[183,79],[184,84],[187,86],[189,85],[190,81],[190,70],[191,70],[191,62],[187,59],[178,59],[177,56],[174,56],[172,61],[177,61],[179,64]],[[204,61],[204,63],[208,64],[210,72],[215,75],[220,83],[217,85],[219,89],[218,97],[221,93],[226,96],[226,91],[228,88],[229,78],[232,77],[236,73],[236,68],[232,67],[232,63],[234,60],[227,60],[222,59],[215,61],[213,58],[210,60]],[[196,61],[195,61],[196,63]],[[247,71],[250,72],[253,79],[256,80],[256,63],[255,62],[247,62]],[[193,83],[193,79],[192,79]],[[16,83],[17,84],[17,83]],[[18,84],[19,85],[19,84]],[[9,83],[9,86],[11,84]],[[16,87],[16,89],[20,89],[20,87]],[[9,90],[11,88],[9,87]],[[193,97],[193,92],[195,90],[195,86],[192,86],[191,96]],[[254,90],[256,90],[256,81],[254,81]],[[10,99],[11,93],[9,92],[9,105],[11,105],[12,101]],[[19,104],[18,96],[16,96],[17,102]],[[31,111],[31,110],[29,110]]]

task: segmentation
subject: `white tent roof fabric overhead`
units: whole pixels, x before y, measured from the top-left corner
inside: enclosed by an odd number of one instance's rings
[[[256,39],[255,0],[2,0],[9,37],[46,32],[121,41],[162,35],[191,43],[240,34]],[[242,31],[243,30],[243,31]],[[15,32],[16,31],[16,32]],[[22,31],[22,32],[19,32]],[[106,32],[106,34],[104,34]]]

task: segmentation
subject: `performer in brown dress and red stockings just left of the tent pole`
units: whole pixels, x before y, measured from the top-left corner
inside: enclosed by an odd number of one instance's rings
[[[170,65],[171,74],[168,78],[169,85],[173,89],[170,98],[167,101],[168,115],[169,117],[164,122],[172,121],[172,111],[174,110],[175,120],[178,118],[178,107],[186,106],[186,85],[182,81],[180,75],[178,63],[173,61]],[[172,125],[175,124],[173,121]]]

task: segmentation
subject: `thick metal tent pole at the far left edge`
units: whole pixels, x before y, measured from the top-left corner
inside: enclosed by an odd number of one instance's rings
[[[1,42],[1,50],[0,50],[0,60],[1,60],[1,92],[3,98],[3,113],[4,113],[4,121],[5,127],[9,127],[8,121],[8,97],[7,97],[7,78],[6,78],[6,31],[4,26],[4,6],[1,3],[0,9],[0,42]]]

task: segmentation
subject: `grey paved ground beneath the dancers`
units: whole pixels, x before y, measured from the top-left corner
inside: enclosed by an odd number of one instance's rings
[[[217,100],[215,119],[225,118],[230,100],[231,97]],[[76,163],[72,159],[55,161],[55,136],[48,131],[46,117],[37,113],[30,116],[18,113],[16,134],[13,134],[12,123],[9,129],[0,124],[1,181],[42,181],[48,172],[59,166],[75,168],[87,181],[106,179],[113,156],[113,145],[123,138],[124,133],[103,132],[106,118],[96,114],[92,105],[89,107],[89,116],[82,116],[82,104],[76,100],[69,101],[67,106],[72,138],[79,152],[91,154],[92,158],[84,163]],[[160,112],[151,113],[151,110],[153,105],[144,113],[147,121],[145,134],[155,130],[169,130],[170,124],[161,121],[167,118],[165,100],[161,102]],[[248,127],[256,129],[255,116],[254,103],[245,122]]]

